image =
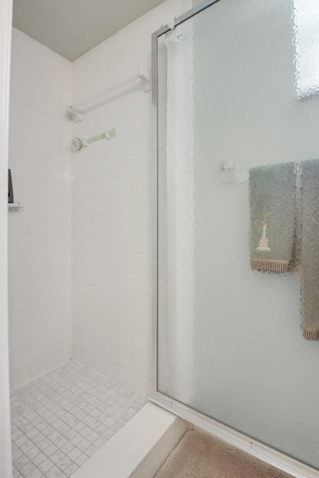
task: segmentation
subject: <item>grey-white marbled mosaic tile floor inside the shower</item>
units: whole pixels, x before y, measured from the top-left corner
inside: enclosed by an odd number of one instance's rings
[[[14,478],[69,478],[147,402],[73,360],[11,392]]]

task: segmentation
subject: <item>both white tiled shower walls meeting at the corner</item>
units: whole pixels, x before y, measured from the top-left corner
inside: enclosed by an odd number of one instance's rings
[[[190,7],[167,0],[73,64],[13,28],[12,387],[69,359],[72,340],[72,358],[150,391],[151,93],[131,85],[73,127],[65,105],[150,68],[152,32]],[[71,137],[111,127],[115,139],[71,154]]]

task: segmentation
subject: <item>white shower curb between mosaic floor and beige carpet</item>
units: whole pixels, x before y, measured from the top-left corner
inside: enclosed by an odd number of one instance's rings
[[[187,423],[148,402],[72,478],[153,478]]]

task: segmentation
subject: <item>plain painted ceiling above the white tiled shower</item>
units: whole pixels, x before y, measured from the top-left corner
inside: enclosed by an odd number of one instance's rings
[[[13,26],[75,60],[163,0],[13,0]]]

